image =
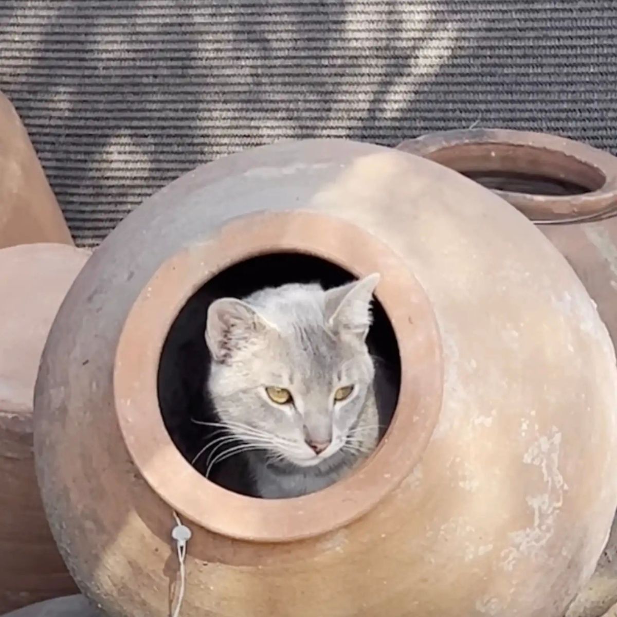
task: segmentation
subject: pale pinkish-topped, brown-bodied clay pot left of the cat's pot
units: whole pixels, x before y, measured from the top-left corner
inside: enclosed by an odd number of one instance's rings
[[[36,373],[60,302],[89,253],[64,244],[0,250],[0,613],[70,594],[36,483]]]

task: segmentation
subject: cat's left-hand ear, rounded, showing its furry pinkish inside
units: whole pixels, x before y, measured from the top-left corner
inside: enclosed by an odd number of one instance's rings
[[[235,298],[220,298],[208,307],[205,342],[217,362],[225,362],[234,350],[270,325],[252,307]]]

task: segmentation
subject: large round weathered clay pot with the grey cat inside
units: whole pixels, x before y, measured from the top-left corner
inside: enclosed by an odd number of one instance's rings
[[[181,455],[159,361],[205,281],[249,260],[264,284],[290,253],[381,273],[400,392],[355,473],[260,500]],[[35,452],[60,550],[111,617],[168,615],[174,511],[193,533],[183,617],[558,617],[617,505],[616,408],[607,330],[523,215],[428,160],[310,140],[199,167],[110,234],[52,326]]]

